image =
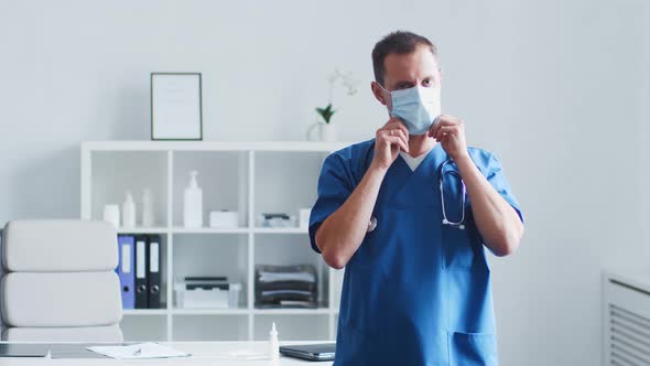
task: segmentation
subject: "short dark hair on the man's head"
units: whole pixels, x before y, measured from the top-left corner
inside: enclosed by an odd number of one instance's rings
[[[404,55],[413,53],[418,46],[421,45],[429,47],[431,53],[437,60],[436,46],[425,36],[412,32],[392,32],[381,39],[381,41],[377,42],[375,49],[372,49],[372,69],[375,71],[375,80],[383,85],[383,74],[386,73],[383,61],[389,54],[394,53],[398,55]]]

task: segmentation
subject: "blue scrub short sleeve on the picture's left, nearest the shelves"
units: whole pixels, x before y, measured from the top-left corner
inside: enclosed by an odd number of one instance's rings
[[[318,197],[310,215],[310,240],[312,249],[316,246],[316,230],[321,224],[338,209],[354,191],[354,175],[350,170],[349,153],[335,152],[323,163],[318,177]]]

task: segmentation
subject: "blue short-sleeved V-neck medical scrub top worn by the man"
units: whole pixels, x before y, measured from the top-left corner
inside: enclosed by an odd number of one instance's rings
[[[360,182],[373,143],[325,160],[310,217],[314,250],[316,229]],[[523,220],[499,161],[468,151]],[[377,227],[345,268],[334,365],[498,365],[490,271],[469,200],[464,230],[442,224],[440,170],[447,159],[437,143],[415,171],[401,157],[388,170],[372,214]],[[448,163],[447,170],[457,168]],[[445,174],[444,193],[447,217],[456,222],[459,177]]]

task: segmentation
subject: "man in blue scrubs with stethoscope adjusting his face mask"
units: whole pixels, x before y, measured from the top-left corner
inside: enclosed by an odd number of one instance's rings
[[[499,161],[441,115],[437,50],[394,32],[371,89],[390,119],[324,162],[314,250],[344,268],[335,365],[497,365],[484,246],[507,256],[523,219]]]

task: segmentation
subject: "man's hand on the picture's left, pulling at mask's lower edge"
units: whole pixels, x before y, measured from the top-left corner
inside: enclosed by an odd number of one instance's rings
[[[400,150],[409,152],[409,130],[402,120],[392,117],[375,134],[375,158],[372,164],[388,170]]]

